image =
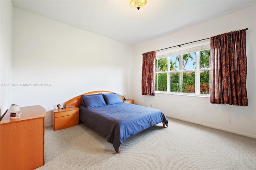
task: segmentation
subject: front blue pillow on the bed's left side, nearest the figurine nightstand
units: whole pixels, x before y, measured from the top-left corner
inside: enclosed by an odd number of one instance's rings
[[[84,102],[84,106],[86,108],[106,106],[106,103],[104,101],[102,94],[84,95],[82,96],[82,101]]]

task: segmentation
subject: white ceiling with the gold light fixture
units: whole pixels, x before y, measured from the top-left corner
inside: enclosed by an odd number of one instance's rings
[[[136,45],[256,4],[256,0],[12,0],[13,7]]]

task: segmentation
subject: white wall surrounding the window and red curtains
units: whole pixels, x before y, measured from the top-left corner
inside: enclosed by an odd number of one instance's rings
[[[170,18],[171,21],[171,18]],[[136,104],[161,109],[167,116],[256,138],[256,6],[208,20],[133,47],[133,98]],[[210,104],[205,97],[141,95],[142,53],[205,39],[239,29],[246,31],[248,107]],[[170,122],[172,123],[172,122]],[[175,129],[174,129],[175,130]]]

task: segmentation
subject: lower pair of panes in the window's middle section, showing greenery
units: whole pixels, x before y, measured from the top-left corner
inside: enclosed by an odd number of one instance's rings
[[[170,92],[195,93],[195,72],[171,73]]]

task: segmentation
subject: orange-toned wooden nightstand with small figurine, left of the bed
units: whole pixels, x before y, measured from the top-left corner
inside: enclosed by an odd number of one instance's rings
[[[54,131],[79,124],[79,108],[70,107],[52,110],[52,127]]]

